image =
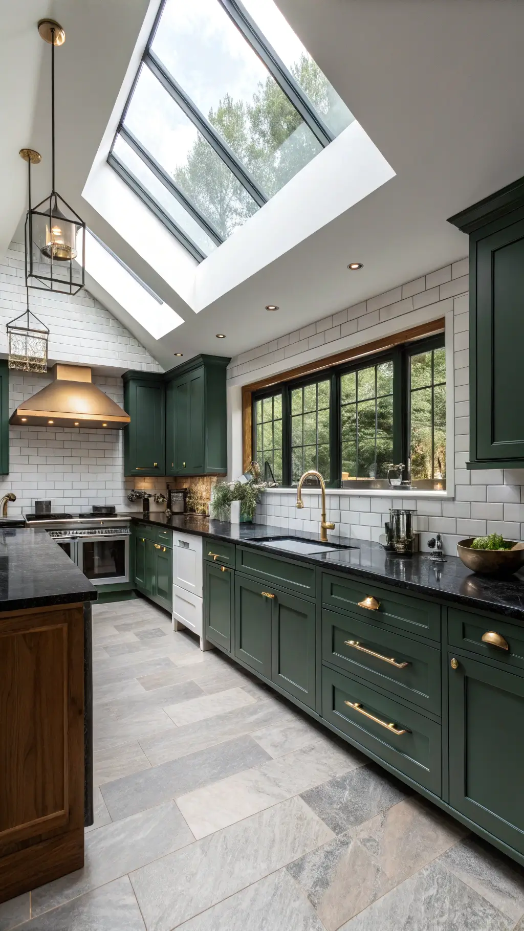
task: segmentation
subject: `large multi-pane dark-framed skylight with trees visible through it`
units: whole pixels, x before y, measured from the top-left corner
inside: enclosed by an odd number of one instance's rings
[[[108,161],[201,261],[353,119],[274,0],[163,0]]]

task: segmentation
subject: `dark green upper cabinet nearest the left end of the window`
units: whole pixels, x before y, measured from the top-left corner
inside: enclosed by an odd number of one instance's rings
[[[168,475],[227,472],[228,362],[221,356],[196,356],[166,372]]]

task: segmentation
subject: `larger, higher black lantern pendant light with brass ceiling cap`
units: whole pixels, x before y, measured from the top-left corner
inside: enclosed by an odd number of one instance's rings
[[[55,47],[63,45],[65,32],[55,20],[40,20],[38,32],[51,46],[51,193],[32,208],[30,191],[26,283],[30,288],[76,294],[85,285],[86,223],[55,188]]]

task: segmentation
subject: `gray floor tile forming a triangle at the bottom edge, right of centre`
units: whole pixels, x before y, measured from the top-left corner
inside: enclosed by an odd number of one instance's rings
[[[340,931],[511,931],[513,922],[432,863],[343,924]]]

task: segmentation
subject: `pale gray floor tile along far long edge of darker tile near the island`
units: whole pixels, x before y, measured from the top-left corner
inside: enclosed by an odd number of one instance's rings
[[[272,702],[254,702],[244,708],[235,708],[216,718],[208,718],[196,724],[185,724],[174,734],[152,735],[141,739],[141,748],[152,766],[175,760],[195,750],[212,747],[224,740],[278,721],[293,720],[286,708],[275,708]]]

